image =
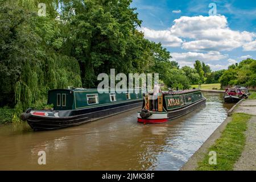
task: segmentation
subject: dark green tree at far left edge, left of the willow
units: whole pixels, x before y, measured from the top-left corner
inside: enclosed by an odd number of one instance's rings
[[[39,36],[30,27],[33,15],[19,6],[1,3],[0,6],[0,96],[1,105],[14,106],[15,83],[20,80],[23,65],[38,62],[35,55],[40,54],[37,44]],[[30,93],[28,93],[29,95]]]

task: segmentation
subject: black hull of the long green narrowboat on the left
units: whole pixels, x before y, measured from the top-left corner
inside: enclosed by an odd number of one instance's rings
[[[61,114],[60,117],[46,117],[30,114],[27,118],[27,123],[34,131],[63,129],[65,127],[81,125],[141,107],[142,101],[143,100],[136,100],[125,104],[115,104],[90,109],[68,110],[64,111],[64,113],[69,114],[69,116],[65,117],[61,117]]]

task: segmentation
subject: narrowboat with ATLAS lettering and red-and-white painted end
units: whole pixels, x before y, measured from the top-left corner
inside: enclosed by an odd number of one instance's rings
[[[146,94],[142,110],[137,117],[140,123],[164,123],[195,110],[206,100],[200,90],[182,90],[158,93],[156,100]]]

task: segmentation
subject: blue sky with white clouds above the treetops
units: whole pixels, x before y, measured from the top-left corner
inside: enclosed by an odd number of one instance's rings
[[[210,3],[217,15],[209,16]],[[256,59],[256,1],[134,0],[139,30],[161,42],[181,66],[204,61],[213,70]]]

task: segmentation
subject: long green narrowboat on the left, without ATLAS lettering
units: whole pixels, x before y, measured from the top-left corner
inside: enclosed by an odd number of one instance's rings
[[[143,101],[141,89],[129,93],[98,93],[97,89],[53,89],[48,91],[51,110],[28,109],[20,118],[35,131],[54,130],[95,121],[109,115],[139,107]]]

